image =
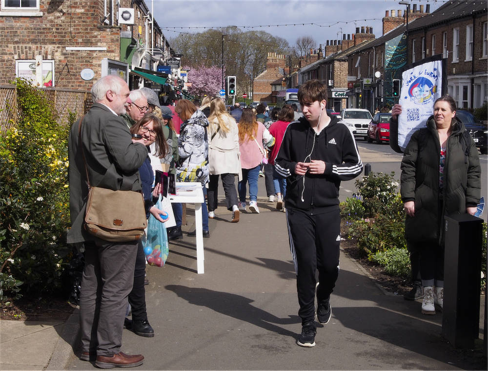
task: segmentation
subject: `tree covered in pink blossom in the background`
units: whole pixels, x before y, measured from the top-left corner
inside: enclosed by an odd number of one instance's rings
[[[222,67],[211,66],[205,67],[184,67],[189,69],[188,82],[191,87],[188,87],[188,92],[192,95],[203,97],[206,95],[219,96],[219,91],[222,88]]]

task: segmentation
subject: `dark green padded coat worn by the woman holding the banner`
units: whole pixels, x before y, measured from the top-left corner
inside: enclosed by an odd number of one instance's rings
[[[468,156],[461,141],[464,124],[457,118],[447,139],[444,165],[444,187],[439,189],[441,146],[433,116],[427,120],[427,130],[413,133],[402,160],[402,200],[415,201],[415,216],[405,223],[407,240],[443,243],[444,216],[465,214],[468,206],[476,206],[481,194],[481,167],[478,150],[469,136]],[[444,199],[439,207],[439,199]]]

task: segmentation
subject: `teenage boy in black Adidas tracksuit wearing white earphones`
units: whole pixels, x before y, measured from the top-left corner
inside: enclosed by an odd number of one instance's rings
[[[297,344],[302,347],[315,346],[316,270],[317,319],[326,324],[332,313],[329,298],[339,274],[341,180],[363,170],[354,136],[327,115],[326,99],[327,88],[318,80],[300,87],[305,117],[288,126],[275,160],[276,171],[286,177],[286,221],[302,318]]]

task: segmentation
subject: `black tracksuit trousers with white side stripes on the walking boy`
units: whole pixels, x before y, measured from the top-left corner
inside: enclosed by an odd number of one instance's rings
[[[339,208],[317,215],[286,208],[286,220],[297,273],[298,315],[305,324],[315,318],[316,271],[318,304],[329,300],[339,275],[341,216]]]

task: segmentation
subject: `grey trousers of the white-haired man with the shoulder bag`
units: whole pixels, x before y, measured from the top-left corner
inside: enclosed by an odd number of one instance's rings
[[[80,295],[81,351],[107,356],[121,351],[137,246],[138,241],[85,242]]]

